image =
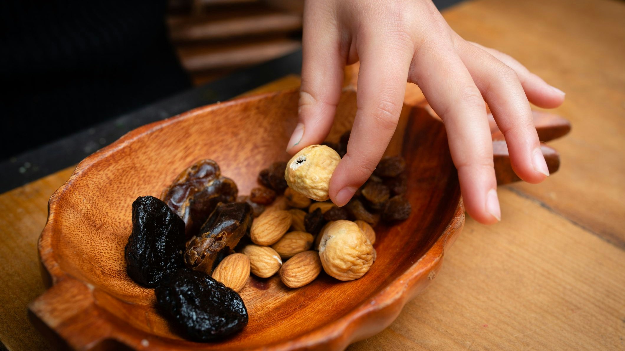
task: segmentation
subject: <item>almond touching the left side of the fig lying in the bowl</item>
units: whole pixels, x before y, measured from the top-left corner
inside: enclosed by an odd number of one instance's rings
[[[321,273],[321,259],[317,251],[299,252],[284,262],[280,278],[287,287],[305,286]]]

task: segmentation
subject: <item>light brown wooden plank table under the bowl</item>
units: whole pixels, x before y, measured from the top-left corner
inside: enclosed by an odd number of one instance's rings
[[[439,276],[361,350],[625,350],[625,4],[479,0],[444,12],[567,92],[561,168],[499,190],[502,222],[467,219]],[[264,90],[299,84],[287,77]],[[406,99],[421,97],[410,86]],[[59,171],[0,195],[0,339],[47,349],[26,305],[43,292],[36,242]]]

